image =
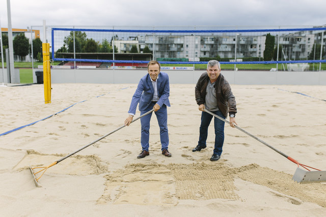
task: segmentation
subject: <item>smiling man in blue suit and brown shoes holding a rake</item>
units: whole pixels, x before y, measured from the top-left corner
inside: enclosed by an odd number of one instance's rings
[[[151,109],[154,109],[161,140],[162,154],[166,157],[171,157],[168,150],[169,133],[168,133],[168,112],[167,106],[170,106],[170,84],[167,73],[160,72],[160,64],[158,61],[150,61],[147,65],[148,74],[141,78],[134,95],[132,96],[129,116],[124,121],[125,126],[129,126],[134,114],[136,113],[137,104],[141,115]],[[149,155],[149,128],[152,113],[141,118],[142,133],[141,144],[142,152],[137,158],[145,158]]]

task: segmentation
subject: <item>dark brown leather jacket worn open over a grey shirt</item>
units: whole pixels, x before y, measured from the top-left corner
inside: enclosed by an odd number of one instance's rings
[[[198,105],[205,104],[206,87],[209,81],[207,72],[203,73],[195,87],[195,97]],[[224,79],[222,74],[219,75],[218,80],[215,82],[216,101],[218,107],[225,117],[229,114],[234,114],[236,111],[235,97],[232,94],[229,82]]]

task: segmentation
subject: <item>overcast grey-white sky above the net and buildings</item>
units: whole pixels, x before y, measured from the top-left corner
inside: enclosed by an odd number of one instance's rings
[[[7,0],[0,0],[8,27]],[[74,26],[316,26],[326,24],[326,0],[11,0],[13,28]]]

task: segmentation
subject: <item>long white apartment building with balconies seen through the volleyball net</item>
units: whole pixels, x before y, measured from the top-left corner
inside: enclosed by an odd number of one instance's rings
[[[301,31],[285,33],[275,36],[275,46],[282,46],[281,59],[305,59],[312,52],[314,43],[321,41],[321,31]],[[323,40],[326,39],[326,34]],[[151,34],[133,37],[132,40],[116,40],[118,52],[128,53],[131,45],[137,45],[139,52],[148,46],[154,58],[187,58],[189,61],[199,61],[200,57],[234,58],[259,57],[263,59],[266,34],[253,35],[252,33],[238,34],[211,34],[211,35],[177,35]],[[236,51],[235,51],[236,49]]]

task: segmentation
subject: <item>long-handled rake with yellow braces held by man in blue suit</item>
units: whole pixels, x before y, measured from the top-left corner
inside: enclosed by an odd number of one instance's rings
[[[134,121],[136,121],[136,120],[138,120],[138,119],[140,119],[141,117],[144,117],[144,116],[150,114],[150,113],[153,112],[153,111],[154,111],[154,109],[152,109],[152,110],[146,112],[145,114],[142,114],[141,116],[139,116],[139,117],[133,119],[133,120],[131,121],[131,123],[134,122]],[[116,130],[114,130],[114,131],[112,131],[112,132],[110,132],[110,133],[108,133],[108,134],[105,134],[105,135],[102,136],[101,138],[96,139],[95,141],[93,141],[93,142],[91,142],[91,143],[85,145],[85,146],[82,147],[82,148],[79,148],[78,150],[76,150],[76,151],[74,151],[74,152],[68,154],[67,156],[63,157],[62,159],[60,159],[60,160],[58,160],[58,161],[55,161],[55,162],[53,162],[52,164],[50,164],[50,165],[48,165],[48,166],[46,166],[46,167],[30,167],[30,170],[31,170],[31,172],[32,172],[32,174],[33,174],[33,177],[34,177],[34,182],[35,182],[36,187],[42,187],[42,186],[40,185],[40,183],[39,183],[39,179],[42,177],[42,175],[45,173],[45,171],[46,171],[48,168],[50,168],[50,167],[52,167],[52,166],[58,164],[59,162],[61,162],[61,161],[65,160],[65,159],[67,159],[67,158],[73,156],[73,154],[75,154],[75,153],[77,153],[77,152],[83,150],[84,148],[87,148],[88,146],[94,144],[95,142],[100,141],[101,139],[107,137],[108,135],[111,135],[111,134],[117,132],[118,130],[120,130],[120,129],[124,128],[124,127],[126,127],[126,126],[123,125],[123,126],[119,127],[118,129],[116,129]],[[41,175],[40,175],[39,177],[37,177],[37,174],[39,174],[39,173],[40,173]]]

